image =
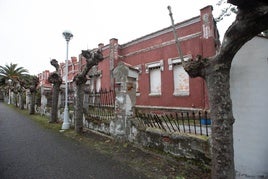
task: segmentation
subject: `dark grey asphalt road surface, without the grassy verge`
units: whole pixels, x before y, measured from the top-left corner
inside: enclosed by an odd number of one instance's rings
[[[105,155],[46,129],[0,102],[1,179],[144,178]]]

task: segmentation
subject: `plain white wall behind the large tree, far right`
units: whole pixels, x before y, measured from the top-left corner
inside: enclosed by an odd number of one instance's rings
[[[268,178],[268,39],[255,37],[240,49],[230,83],[237,178]]]

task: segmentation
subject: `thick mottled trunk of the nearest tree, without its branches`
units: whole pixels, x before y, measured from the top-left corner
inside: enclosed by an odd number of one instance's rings
[[[235,178],[230,68],[206,78],[212,120],[212,178]]]

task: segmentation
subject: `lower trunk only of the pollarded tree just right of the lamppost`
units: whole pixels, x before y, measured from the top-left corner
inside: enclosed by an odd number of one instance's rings
[[[83,132],[83,102],[84,102],[84,83],[76,86],[76,103],[75,103],[75,132]]]

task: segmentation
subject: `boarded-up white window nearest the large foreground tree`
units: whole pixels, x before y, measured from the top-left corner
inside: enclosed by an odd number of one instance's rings
[[[190,55],[184,57],[187,61],[191,58]],[[174,96],[189,96],[190,95],[190,78],[188,73],[181,65],[181,60],[174,58],[168,59],[169,70],[173,70]]]

